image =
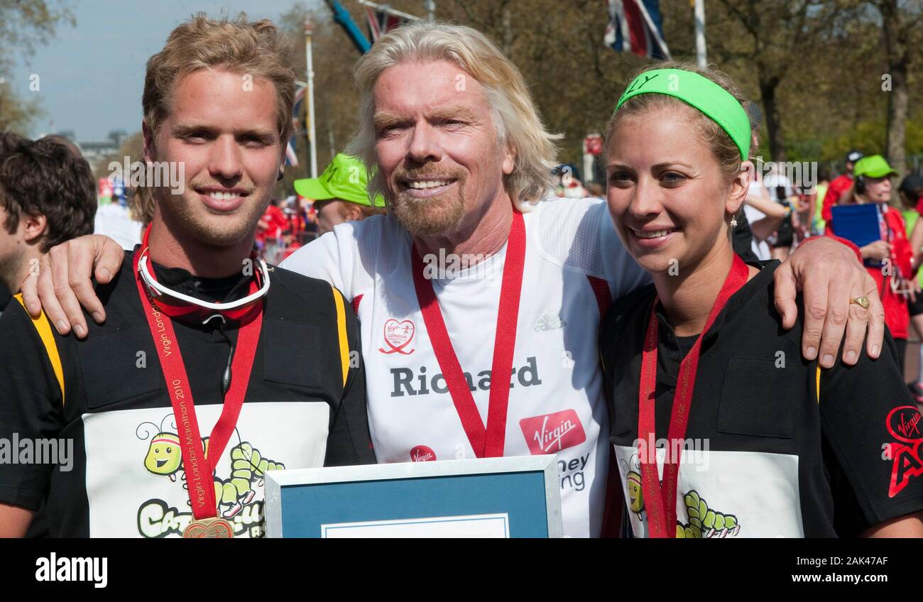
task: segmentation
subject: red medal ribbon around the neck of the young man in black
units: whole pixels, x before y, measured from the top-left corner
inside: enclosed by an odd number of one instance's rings
[[[183,468],[186,471],[186,485],[189,500],[192,502],[192,513],[196,520],[213,518],[218,514],[218,504],[215,500],[214,479],[212,475],[215,465],[222,457],[222,452],[227,446],[241,407],[244,405],[247,384],[250,381],[250,370],[253,359],[257,354],[259,331],[263,324],[262,299],[254,307],[246,307],[249,314],[242,322],[237,335],[237,344],[234,349],[234,359],[231,370],[234,376],[231,386],[224,397],[222,415],[211,430],[209,439],[208,457],[204,457],[202,437],[198,430],[196,406],[192,400],[192,389],[189,378],[186,376],[186,365],[180,354],[179,342],[176,340],[173,322],[163,310],[163,306],[155,304],[138,272],[138,261],[147,252],[147,233],[145,243],[135,251],[134,267],[135,282],[138,284],[138,295],[144,315],[148,319],[150,335],[153,337],[157,355],[161,360],[163,379],[170,391],[170,402],[173,405],[176,418],[176,430],[180,439],[180,450],[183,454]],[[258,291],[257,279],[250,283],[250,294]],[[257,311],[251,311],[252,309]],[[187,313],[187,312],[182,312]],[[211,312],[217,314],[220,312]],[[230,312],[229,312],[230,313]]]

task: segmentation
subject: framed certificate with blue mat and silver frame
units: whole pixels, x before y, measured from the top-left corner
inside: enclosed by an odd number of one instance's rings
[[[270,537],[560,537],[554,455],[266,473]]]

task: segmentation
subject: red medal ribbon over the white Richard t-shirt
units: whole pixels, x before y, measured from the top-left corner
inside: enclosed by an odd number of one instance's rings
[[[462,427],[478,458],[503,455],[507,430],[507,406],[509,404],[509,379],[513,366],[513,351],[516,346],[516,320],[519,319],[522,269],[525,265],[525,223],[520,211],[513,211],[513,223],[509,228],[507,257],[503,265],[503,281],[500,285],[500,304],[497,310],[497,332],[494,336],[494,358],[490,372],[490,397],[487,405],[487,426],[481,421],[468,381],[464,378],[462,365],[452,347],[446,322],[442,318],[439,302],[433,290],[433,283],[426,279],[423,258],[416,245],[411,248],[416,298],[420,303],[426,332],[433,343],[433,351],[442,370],[443,378],[455,404],[455,410],[462,419]],[[496,385],[496,386],[495,386]]]

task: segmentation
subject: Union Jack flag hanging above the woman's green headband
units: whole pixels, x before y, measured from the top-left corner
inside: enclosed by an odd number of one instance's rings
[[[605,45],[617,53],[634,53],[668,60],[658,0],[608,0],[609,25]]]

